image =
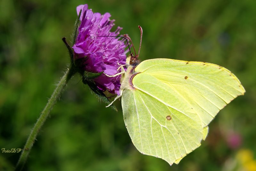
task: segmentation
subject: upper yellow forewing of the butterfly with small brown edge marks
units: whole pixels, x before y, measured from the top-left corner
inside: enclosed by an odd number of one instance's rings
[[[140,63],[136,72],[147,73],[177,93],[207,126],[217,113],[245,90],[228,69],[204,62],[152,59]],[[176,107],[176,102],[172,101]]]

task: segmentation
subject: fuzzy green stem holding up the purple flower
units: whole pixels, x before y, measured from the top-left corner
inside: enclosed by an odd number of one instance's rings
[[[20,155],[20,159],[16,165],[15,170],[22,170],[27,158],[28,154],[36,140],[36,136],[38,132],[40,131],[41,127],[44,125],[45,120],[47,119],[50,111],[52,110],[53,105],[57,102],[59,99],[61,93],[65,89],[69,79],[74,75],[74,70],[71,68],[69,69],[60,79],[60,82],[58,83],[57,87],[55,88],[54,92],[52,93],[51,98],[48,100],[48,103],[44,107],[44,110],[42,111],[40,117],[37,119],[36,124],[32,131],[30,132],[30,135],[27,139],[27,142],[22,150],[22,153]]]

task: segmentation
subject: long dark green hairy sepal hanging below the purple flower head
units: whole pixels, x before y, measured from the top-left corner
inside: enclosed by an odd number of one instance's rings
[[[95,83],[92,80],[85,80],[83,79],[83,83],[87,84],[91,90],[95,93],[96,96],[99,97],[100,100],[102,100],[104,103],[107,103],[108,105],[110,104],[110,101],[108,98],[105,96],[105,94],[95,85]],[[113,110],[117,111],[117,108],[114,104],[110,106]]]

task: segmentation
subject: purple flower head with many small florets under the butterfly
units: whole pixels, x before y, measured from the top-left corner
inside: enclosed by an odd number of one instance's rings
[[[93,13],[88,10],[88,5],[79,5],[76,7],[77,15],[82,9],[78,28],[76,43],[74,49],[74,61],[81,61],[83,71],[99,73],[104,71],[107,75],[115,75],[120,70],[117,68],[125,64],[127,44],[125,39],[116,37],[99,37],[99,36],[118,36],[121,27],[117,27],[115,32],[110,32],[115,20],[110,20],[110,14]],[[80,66],[80,64],[79,64]],[[102,90],[108,90],[112,94],[119,95],[121,75],[108,77],[104,74],[94,79],[96,86]]]

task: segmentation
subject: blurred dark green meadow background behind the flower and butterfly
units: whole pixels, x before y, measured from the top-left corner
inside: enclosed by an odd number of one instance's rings
[[[255,0],[1,0],[0,149],[23,148],[55,84],[67,68],[76,6],[110,12],[121,34],[129,34],[140,60],[172,58],[228,68],[246,93],[220,111],[202,146],[179,165],[140,154],[118,112],[76,75],[37,137],[24,170],[255,171]],[[20,153],[0,152],[0,170],[12,170]]]

